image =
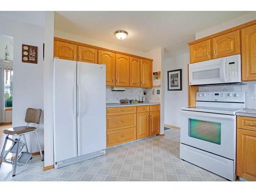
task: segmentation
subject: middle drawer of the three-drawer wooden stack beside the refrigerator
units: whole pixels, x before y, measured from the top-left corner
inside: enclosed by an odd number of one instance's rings
[[[136,126],[136,114],[115,115],[106,117],[106,130],[120,130]]]

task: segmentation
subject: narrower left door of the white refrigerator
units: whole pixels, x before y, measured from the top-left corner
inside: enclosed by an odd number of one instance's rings
[[[54,162],[77,156],[76,61],[54,58]]]

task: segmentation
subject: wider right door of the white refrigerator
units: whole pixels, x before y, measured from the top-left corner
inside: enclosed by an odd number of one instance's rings
[[[78,156],[106,148],[105,65],[77,62]]]

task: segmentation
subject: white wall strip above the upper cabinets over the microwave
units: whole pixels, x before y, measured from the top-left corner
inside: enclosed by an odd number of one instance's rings
[[[254,19],[256,19],[256,11],[234,18],[232,20],[229,20],[228,22],[217,25],[215,27],[211,27],[209,29],[197,32],[196,39],[200,39],[202,37],[206,37],[208,35],[215,34],[232,27],[236,27],[238,25],[250,22],[251,20],[254,20]]]

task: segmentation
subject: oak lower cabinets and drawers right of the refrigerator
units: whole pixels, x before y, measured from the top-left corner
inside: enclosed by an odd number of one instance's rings
[[[106,146],[160,134],[160,105],[106,109]]]

